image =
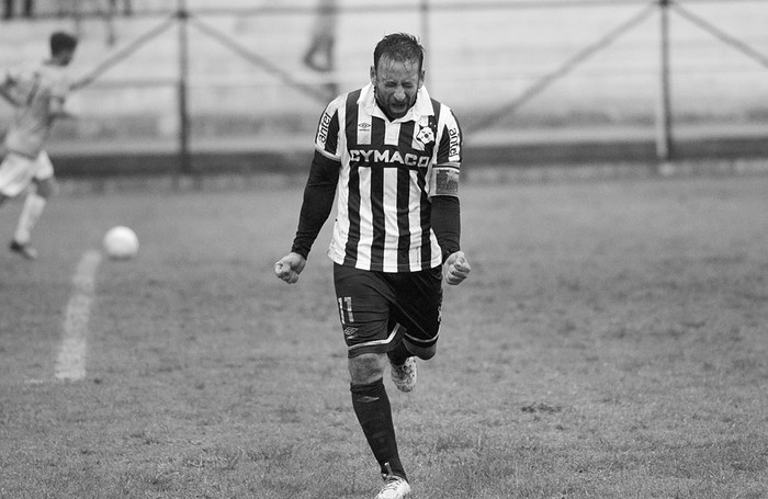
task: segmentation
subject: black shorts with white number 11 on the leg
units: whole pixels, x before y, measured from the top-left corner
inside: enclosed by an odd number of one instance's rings
[[[388,352],[403,338],[420,348],[438,341],[441,266],[388,273],[335,263],[334,283],[350,358]]]

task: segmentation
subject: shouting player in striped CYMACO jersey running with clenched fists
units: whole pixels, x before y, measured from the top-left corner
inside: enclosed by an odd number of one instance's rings
[[[453,112],[423,86],[423,47],[385,36],[373,52],[371,82],[325,109],[291,252],[274,272],[295,283],[338,191],[328,256],[347,342],[352,408],[384,485],[399,499],[410,485],[397,452],[386,364],[402,392],[416,361],[436,353],[442,279],[463,282],[460,247],[462,136]]]

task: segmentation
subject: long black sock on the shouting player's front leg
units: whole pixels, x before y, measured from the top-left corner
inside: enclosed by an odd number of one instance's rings
[[[392,408],[384,388],[384,381],[380,378],[370,385],[352,385],[351,392],[352,408],[368,444],[381,466],[382,474],[387,474],[388,465],[393,474],[407,479],[397,454]]]

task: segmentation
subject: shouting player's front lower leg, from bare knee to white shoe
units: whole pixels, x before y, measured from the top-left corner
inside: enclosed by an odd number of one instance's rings
[[[395,427],[392,421],[389,398],[384,387],[384,353],[365,353],[349,360],[352,408],[360,427],[381,466],[384,486],[377,499],[400,499],[410,492],[410,486],[397,453]]]

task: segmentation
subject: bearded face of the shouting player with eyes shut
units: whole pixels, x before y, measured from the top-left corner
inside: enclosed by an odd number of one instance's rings
[[[387,57],[371,68],[371,82],[376,90],[376,102],[391,120],[405,116],[416,103],[416,93],[423,83],[423,70],[418,60],[398,63]]]

